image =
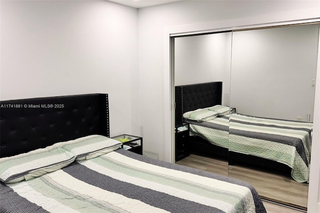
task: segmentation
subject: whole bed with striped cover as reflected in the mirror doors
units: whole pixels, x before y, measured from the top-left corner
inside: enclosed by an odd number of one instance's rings
[[[203,85],[210,84],[222,86],[221,82],[210,82]],[[190,92],[185,92],[185,90],[195,90],[195,87],[199,85],[203,86],[202,84],[178,86],[182,92],[176,98],[187,100]],[[198,93],[203,93],[198,88],[196,90]],[[216,90],[211,89],[210,91],[217,93]],[[193,92],[193,95],[195,95],[194,93],[196,92]],[[220,90],[218,94],[221,94]],[[221,96],[217,98],[221,100]],[[217,105],[219,104],[220,101]],[[197,140],[198,137],[191,137],[192,148],[190,149],[200,150],[195,153],[211,154],[210,156],[214,157],[214,154],[207,151],[212,144],[211,149],[227,156],[231,165],[238,162],[254,165],[290,174],[298,182],[308,182],[312,123],[257,117],[234,112],[223,116],[214,115],[199,122],[199,120],[188,120],[188,117],[183,118],[183,114],[190,113],[187,111],[199,114],[200,109],[198,108],[204,108],[205,110],[200,110],[204,114],[205,111],[210,111],[209,109],[212,109],[215,104],[211,106],[197,105],[197,109],[184,107],[186,105],[190,104],[184,103],[182,112],[178,114],[180,118],[177,119],[189,122],[190,132],[201,138]],[[206,142],[202,142],[202,140]],[[229,150],[228,155],[225,154],[225,149]]]

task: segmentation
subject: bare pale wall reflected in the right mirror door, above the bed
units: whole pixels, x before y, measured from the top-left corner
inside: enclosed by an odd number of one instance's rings
[[[318,33],[319,24],[233,32],[230,105],[289,120],[310,114],[312,121]]]

